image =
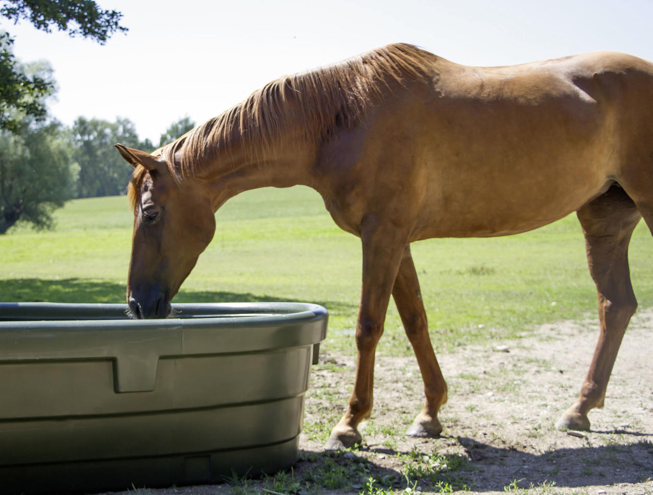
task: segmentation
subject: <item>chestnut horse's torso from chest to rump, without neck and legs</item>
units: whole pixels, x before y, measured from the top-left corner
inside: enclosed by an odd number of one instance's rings
[[[323,195],[347,231],[371,211],[405,216],[411,240],[529,231],[620,182],[632,150],[652,151],[653,65],[626,54],[512,67],[434,57],[432,78],[404,89],[325,148]]]

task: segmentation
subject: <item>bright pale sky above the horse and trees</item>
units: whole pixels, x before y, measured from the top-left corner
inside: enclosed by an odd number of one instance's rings
[[[50,113],[133,121],[158,144],[267,82],[392,42],[457,63],[512,65],[614,50],[653,60],[652,0],[96,0],[123,14],[106,44],[0,20],[23,62],[45,59]]]

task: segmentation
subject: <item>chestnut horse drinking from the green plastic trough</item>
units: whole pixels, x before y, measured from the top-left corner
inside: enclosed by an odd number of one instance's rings
[[[426,404],[407,434],[437,436],[447,385],[426,327],[411,242],[504,236],[577,212],[598,291],[601,333],[578,400],[559,426],[586,430],[603,406],[637,302],[628,243],[653,228],[653,64],[601,52],[515,67],[466,67],[407,44],[284,76],[135,167],[127,300],[166,317],[215,231],[247,189],[318,191],[362,242],[353,392],[325,445],[362,440],[374,352],[390,295],[413,345]]]

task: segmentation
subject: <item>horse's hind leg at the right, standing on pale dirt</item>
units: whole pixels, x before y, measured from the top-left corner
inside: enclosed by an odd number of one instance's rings
[[[633,200],[618,185],[583,206],[577,214],[585,234],[590,274],[598,292],[601,333],[579,398],[556,426],[589,430],[587,413],[594,407],[603,407],[614,359],[637,308],[630,283],[628,244],[641,216]]]

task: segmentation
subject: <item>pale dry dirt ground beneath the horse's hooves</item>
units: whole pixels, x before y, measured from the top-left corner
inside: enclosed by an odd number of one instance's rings
[[[443,435],[436,439],[406,438],[401,433],[423,400],[415,359],[379,356],[374,413],[362,430],[366,443],[338,458],[360,462],[377,479],[394,477],[394,490],[407,486],[400,484],[407,456],[423,456],[428,464],[437,455],[440,459],[460,458],[464,463],[451,473],[448,486],[424,481],[414,490],[488,495],[510,490],[653,494],[653,310],[633,317],[614,366],[605,407],[590,412],[592,431],[573,436],[554,428],[577,396],[597,332],[594,319],[556,323],[517,340],[460,347],[439,355],[449,383],[449,402],[440,415]],[[507,349],[498,350],[500,346]],[[334,366],[313,369],[305,424],[320,421],[327,409],[337,409],[340,414],[353,383],[353,355],[326,354],[322,360]],[[330,394],[325,396],[325,391]],[[310,432],[302,433],[300,462],[294,470],[297,477],[310,468],[311,456],[333,455],[309,436]],[[437,470],[442,466],[431,467]],[[345,494],[364,489],[364,485],[354,484],[324,492]],[[208,495],[229,490],[217,485],[148,490],[148,494]]]

